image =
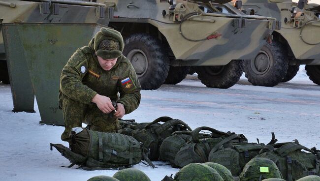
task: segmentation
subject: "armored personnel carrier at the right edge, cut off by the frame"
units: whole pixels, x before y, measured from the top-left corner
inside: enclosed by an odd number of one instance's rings
[[[255,59],[244,63],[249,82],[272,87],[291,80],[300,64],[306,64],[310,80],[320,85],[319,4],[307,4],[307,0],[242,1],[246,14],[271,16],[282,25],[272,33],[272,44],[264,45]]]

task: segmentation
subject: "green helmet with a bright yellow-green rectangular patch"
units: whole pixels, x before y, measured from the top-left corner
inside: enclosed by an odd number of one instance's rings
[[[253,158],[243,168],[241,181],[260,181],[263,179],[282,179],[277,165],[268,158]]]

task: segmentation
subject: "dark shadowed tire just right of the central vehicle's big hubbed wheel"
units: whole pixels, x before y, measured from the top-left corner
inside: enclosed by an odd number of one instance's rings
[[[186,78],[189,69],[190,66],[170,66],[169,74],[164,84],[178,84]]]

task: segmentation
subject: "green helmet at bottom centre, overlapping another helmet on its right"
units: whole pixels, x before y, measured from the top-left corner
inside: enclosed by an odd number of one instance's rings
[[[224,181],[218,172],[201,163],[190,163],[174,176],[174,181]]]

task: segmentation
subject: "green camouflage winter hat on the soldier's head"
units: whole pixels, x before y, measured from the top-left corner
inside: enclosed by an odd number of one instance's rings
[[[124,40],[117,30],[101,28],[95,35],[96,55],[103,59],[115,59],[122,55]]]

